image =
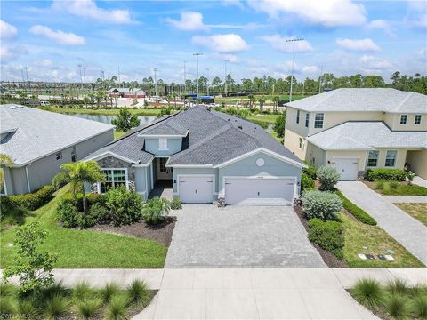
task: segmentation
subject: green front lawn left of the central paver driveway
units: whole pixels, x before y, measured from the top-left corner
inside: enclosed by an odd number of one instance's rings
[[[55,268],[163,268],[167,248],[155,241],[89,230],[62,228],[55,209],[66,188],[49,203],[28,216],[49,232],[43,249],[58,255]],[[15,249],[10,246],[15,228],[2,231],[0,268],[11,264]]]

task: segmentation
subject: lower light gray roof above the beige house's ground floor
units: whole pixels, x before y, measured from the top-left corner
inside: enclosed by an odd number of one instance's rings
[[[381,121],[346,122],[307,137],[324,150],[427,148],[427,132],[391,131]]]

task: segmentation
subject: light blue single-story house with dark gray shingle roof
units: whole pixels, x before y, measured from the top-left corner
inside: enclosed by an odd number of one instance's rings
[[[189,204],[292,205],[305,167],[257,124],[200,106],[136,128],[85,160],[105,173],[96,192],[125,185],[147,199],[169,182]]]

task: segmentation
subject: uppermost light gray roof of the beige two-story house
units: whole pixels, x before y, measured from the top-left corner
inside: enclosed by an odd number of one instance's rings
[[[427,96],[391,88],[341,88],[286,103],[305,111],[427,113]]]

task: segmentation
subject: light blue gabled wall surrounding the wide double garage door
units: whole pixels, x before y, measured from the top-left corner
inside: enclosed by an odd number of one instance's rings
[[[256,165],[256,159],[258,158],[262,158],[264,160],[264,165],[262,165],[262,167]],[[260,152],[254,156],[248,156],[245,159],[219,169],[218,178],[220,184],[220,194],[223,194],[223,178],[225,176],[296,177],[299,186],[301,180],[301,168],[296,167],[293,164],[286,164],[285,162],[278,160],[275,157]]]

